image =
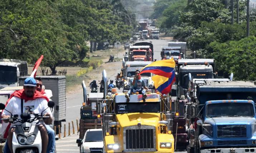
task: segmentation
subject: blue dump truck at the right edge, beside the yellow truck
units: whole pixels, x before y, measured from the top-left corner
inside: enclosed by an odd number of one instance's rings
[[[256,82],[193,81],[188,153],[256,152]]]

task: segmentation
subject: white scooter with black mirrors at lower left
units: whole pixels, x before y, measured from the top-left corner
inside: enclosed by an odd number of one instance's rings
[[[50,107],[52,109],[53,106],[54,106],[54,102],[49,101],[48,108]],[[0,109],[1,110],[5,109],[5,105],[3,103],[0,103]],[[5,109],[5,111],[7,110]],[[43,112],[41,114],[35,114],[33,112],[24,112],[20,115],[20,118],[18,118],[17,114],[14,114],[14,115],[11,114],[10,118],[2,119],[5,121],[8,121],[9,123],[21,123],[21,125],[14,125],[15,130],[13,133],[13,140],[12,140],[14,153],[42,152],[41,134],[38,129],[38,125],[34,124],[33,122],[37,120],[41,121],[42,119],[49,118],[49,116],[43,116]],[[33,114],[35,117],[31,118],[31,114]],[[8,145],[8,144],[6,143],[5,145]]]

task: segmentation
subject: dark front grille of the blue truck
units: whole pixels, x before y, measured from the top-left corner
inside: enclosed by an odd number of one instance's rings
[[[246,137],[246,125],[217,126],[217,137]]]

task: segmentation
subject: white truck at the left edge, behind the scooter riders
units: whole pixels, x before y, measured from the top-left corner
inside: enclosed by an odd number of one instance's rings
[[[23,76],[28,76],[26,61],[0,59],[0,89],[19,86],[19,78]]]

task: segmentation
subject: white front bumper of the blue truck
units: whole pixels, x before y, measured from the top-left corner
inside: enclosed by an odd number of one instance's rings
[[[202,149],[201,153],[252,153],[256,152],[256,148],[218,148],[218,149]]]

